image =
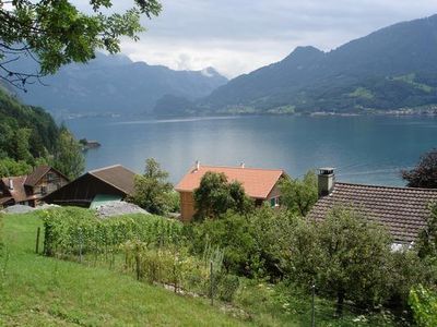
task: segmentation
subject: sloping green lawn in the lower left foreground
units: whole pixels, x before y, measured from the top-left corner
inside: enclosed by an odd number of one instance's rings
[[[0,326],[240,326],[203,299],[34,253],[35,215],[3,216]]]

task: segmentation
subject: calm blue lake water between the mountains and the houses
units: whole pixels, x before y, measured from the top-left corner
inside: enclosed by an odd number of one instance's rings
[[[87,152],[87,169],[121,164],[142,172],[154,157],[174,183],[199,159],[283,168],[293,177],[330,166],[338,181],[403,185],[399,170],[437,147],[437,118],[429,117],[90,118],[67,125],[76,137],[102,143]]]

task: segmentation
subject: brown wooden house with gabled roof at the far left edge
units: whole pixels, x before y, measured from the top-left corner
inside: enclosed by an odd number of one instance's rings
[[[35,207],[42,198],[62,187],[68,178],[49,166],[39,166],[27,175],[7,177],[0,180],[0,206],[15,204]]]

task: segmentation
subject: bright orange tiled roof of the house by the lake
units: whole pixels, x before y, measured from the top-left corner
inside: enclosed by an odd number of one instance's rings
[[[281,169],[200,166],[199,170],[192,168],[188,171],[176,185],[176,191],[194,191],[199,187],[200,180],[208,171],[223,172],[228,182],[240,182],[246,194],[253,198],[267,198],[277,180],[285,173],[284,170]]]

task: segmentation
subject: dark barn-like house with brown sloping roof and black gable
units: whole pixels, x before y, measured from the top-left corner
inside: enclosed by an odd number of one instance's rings
[[[44,197],[49,204],[91,207],[120,201],[134,191],[135,173],[121,165],[91,170]]]

